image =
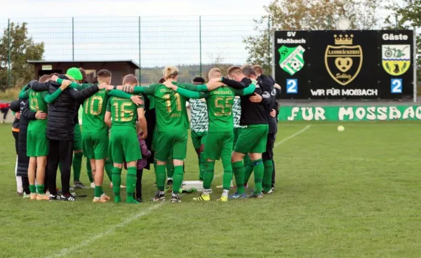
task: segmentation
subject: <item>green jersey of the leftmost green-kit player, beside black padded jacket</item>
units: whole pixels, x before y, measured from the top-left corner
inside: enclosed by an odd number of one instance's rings
[[[46,97],[48,96],[47,91],[34,91],[29,90],[29,109],[31,111],[43,111],[47,113],[48,104]],[[28,131],[46,132],[47,130],[47,119],[35,119],[29,121]]]

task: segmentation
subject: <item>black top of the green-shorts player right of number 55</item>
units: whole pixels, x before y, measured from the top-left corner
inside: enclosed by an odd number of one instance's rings
[[[243,78],[240,82],[222,78],[222,83],[232,88],[247,88],[251,84],[251,80]],[[256,85],[254,91],[258,95],[262,95],[262,88]],[[248,98],[250,95],[241,96],[241,119],[240,125],[267,125],[265,115],[265,105],[263,103],[251,102]]]

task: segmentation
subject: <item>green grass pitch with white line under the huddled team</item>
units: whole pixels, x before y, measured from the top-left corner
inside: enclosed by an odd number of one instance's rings
[[[146,171],[140,205],[93,204],[91,189],[74,203],[18,198],[11,126],[0,125],[0,257],[421,257],[420,124],[337,125],[279,124],[270,196],[151,203]],[[196,170],[190,142],[186,179]]]

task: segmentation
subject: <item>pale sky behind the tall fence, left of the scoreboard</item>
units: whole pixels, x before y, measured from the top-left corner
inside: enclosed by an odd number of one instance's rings
[[[270,0],[0,0],[0,29],[7,27],[8,18],[11,22],[27,22],[29,35],[46,46],[44,60],[131,59],[153,67],[199,64],[200,60],[210,63],[224,56],[224,62],[243,64],[247,52],[242,40],[257,34],[253,32],[253,19],[265,14],[263,6],[269,3]],[[203,15],[200,21],[199,15]]]

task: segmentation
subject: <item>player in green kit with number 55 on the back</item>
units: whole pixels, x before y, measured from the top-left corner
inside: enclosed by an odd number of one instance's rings
[[[220,79],[221,71],[218,68],[210,69],[208,74],[210,80]],[[218,201],[228,201],[229,188],[232,179],[232,144],[234,134],[232,105],[234,104],[235,95],[250,95],[255,90],[255,85],[250,84],[244,90],[236,90],[234,88],[223,87],[212,90],[208,93],[195,93],[184,88],[179,88],[173,84],[165,84],[169,88],[180,93],[185,97],[204,97],[207,103],[209,133],[205,144],[204,157],[206,158],[206,172],[203,176],[203,194],[194,198],[194,201],[210,201],[210,185],[212,184],[215,161],[222,159],[224,167],[224,176],[222,179],[222,196]]]

